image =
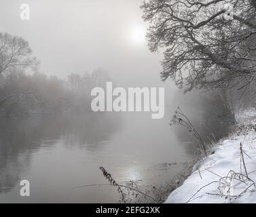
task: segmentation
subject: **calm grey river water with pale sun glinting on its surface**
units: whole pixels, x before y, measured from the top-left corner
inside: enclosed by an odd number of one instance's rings
[[[120,183],[162,184],[180,169],[170,163],[191,157],[168,119],[106,114],[1,121],[0,203],[117,202],[109,186],[72,187],[106,183],[99,166]],[[164,170],[162,163],[169,163]],[[19,195],[22,179],[30,181],[30,197]]]

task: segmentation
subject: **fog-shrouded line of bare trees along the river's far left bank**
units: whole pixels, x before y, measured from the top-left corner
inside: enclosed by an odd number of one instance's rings
[[[29,43],[0,33],[0,113],[7,117],[34,114],[89,113],[92,87],[111,81],[105,71],[70,74],[67,79],[39,73]]]

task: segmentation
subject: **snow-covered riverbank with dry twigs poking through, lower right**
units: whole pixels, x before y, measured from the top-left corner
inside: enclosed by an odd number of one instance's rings
[[[236,119],[240,130],[215,144],[166,203],[256,203],[256,111]]]

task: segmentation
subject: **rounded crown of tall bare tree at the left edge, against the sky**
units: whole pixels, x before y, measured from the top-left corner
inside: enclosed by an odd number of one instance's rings
[[[25,68],[37,64],[37,59],[31,57],[29,43],[21,37],[13,37],[0,33],[0,75],[10,68]]]

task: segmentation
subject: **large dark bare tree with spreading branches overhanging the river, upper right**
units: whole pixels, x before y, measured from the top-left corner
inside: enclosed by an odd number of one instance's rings
[[[189,91],[256,80],[255,0],[145,0],[141,8],[151,52],[165,49],[163,81]]]

